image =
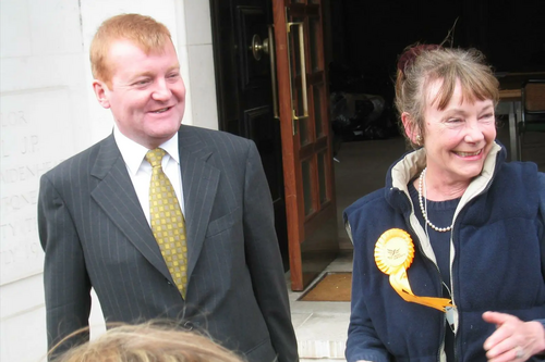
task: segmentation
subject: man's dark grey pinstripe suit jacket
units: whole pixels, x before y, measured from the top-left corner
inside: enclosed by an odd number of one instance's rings
[[[93,287],[107,322],[175,320],[249,361],[295,361],[270,192],[255,145],[191,126],[178,135],[186,300],[173,285],[112,135],[41,177],[49,346],[88,324]]]

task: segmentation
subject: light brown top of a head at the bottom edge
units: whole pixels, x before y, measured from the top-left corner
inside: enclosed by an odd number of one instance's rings
[[[55,353],[55,349],[50,353]],[[208,337],[145,323],[113,327],[95,340],[69,349],[53,361],[242,362],[243,360]]]

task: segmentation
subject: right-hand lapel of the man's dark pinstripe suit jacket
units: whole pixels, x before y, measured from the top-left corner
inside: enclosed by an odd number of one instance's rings
[[[213,151],[191,127],[181,127],[179,149],[186,214],[187,280],[190,280],[203,248],[220,171],[207,163]]]

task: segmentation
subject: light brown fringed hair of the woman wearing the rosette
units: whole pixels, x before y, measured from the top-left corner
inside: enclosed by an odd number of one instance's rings
[[[436,99],[428,100],[428,86],[436,80],[441,85]],[[412,129],[424,134],[424,110],[435,103],[444,110],[460,82],[464,101],[492,100],[497,105],[498,80],[484,54],[476,49],[443,48],[436,45],[417,45],[405,48],[399,58],[396,79],[396,108],[399,115],[407,112],[413,123]],[[402,132],[405,135],[404,132]],[[407,135],[405,135],[407,137]],[[412,147],[412,143],[407,137]]]

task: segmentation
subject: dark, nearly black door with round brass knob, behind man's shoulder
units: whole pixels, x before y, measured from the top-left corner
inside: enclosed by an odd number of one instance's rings
[[[280,122],[275,117],[270,0],[211,0],[219,128],[255,141],[275,208],[284,271],[289,269]],[[254,45],[254,46],[253,46]],[[272,58],[274,60],[274,58]]]

